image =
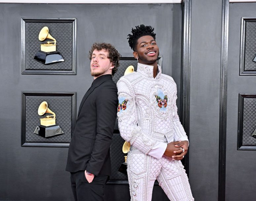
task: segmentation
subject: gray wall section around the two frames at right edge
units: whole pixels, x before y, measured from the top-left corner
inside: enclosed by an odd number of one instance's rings
[[[255,94],[255,76],[239,76],[241,17],[256,17],[256,3],[229,7],[226,200],[255,200],[255,151],[238,151],[238,97]]]

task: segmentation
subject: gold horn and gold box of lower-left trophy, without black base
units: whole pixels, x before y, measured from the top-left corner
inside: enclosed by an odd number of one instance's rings
[[[48,108],[48,104],[47,104],[46,101],[42,102],[38,107],[38,115],[42,116],[45,113],[50,113],[50,114],[53,114],[53,115],[47,115],[45,118],[40,118],[41,125],[43,125],[43,126],[55,125],[56,115],[53,111],[51,111]]]

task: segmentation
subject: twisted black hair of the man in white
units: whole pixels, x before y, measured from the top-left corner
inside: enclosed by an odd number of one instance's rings
[[[144,24],[141,24],[139,26],[135,26],[134,28],[131,28],[131,34],[128,34],[128,43],[129,46],[133,51],[136,50],[137,41],[141,36],[152,36],[154,40],[156,40],[156,34],[153,32],[154,28],[152,26],[145,26]]]

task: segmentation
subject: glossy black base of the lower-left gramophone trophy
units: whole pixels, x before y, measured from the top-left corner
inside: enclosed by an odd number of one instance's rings
[[[62,129],[59,126],[37,126],[35,131],[35,134],[40,135],[44,138],[54,137],[56,135],[64,134]]]

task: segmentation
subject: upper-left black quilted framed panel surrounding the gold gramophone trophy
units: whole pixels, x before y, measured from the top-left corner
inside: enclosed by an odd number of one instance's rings
[[[34,60],[40,44],[53,41],[38,39],[45,26],[65,61],[46,65]],[[76,75],[76,18],[21,18],[21,60],[22,74]]]

